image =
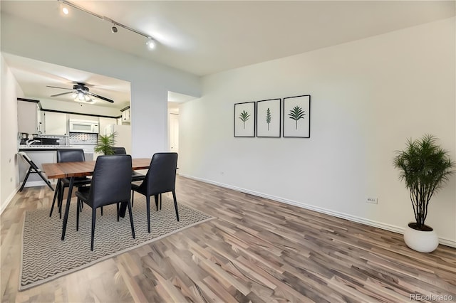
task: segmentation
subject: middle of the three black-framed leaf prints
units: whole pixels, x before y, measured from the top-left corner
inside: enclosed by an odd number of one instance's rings
[[[257,137],[280,138],[280,99],[257,101]]]

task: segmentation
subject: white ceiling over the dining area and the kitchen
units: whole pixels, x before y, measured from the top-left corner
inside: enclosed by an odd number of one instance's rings
[[[284,58],[450,18],[456,14],[455,1],[73,3],[154,37],[159,42],[157,48],[147,50],[144,37],[124,28],[118,27],[118,33],[111,33],[112,23],[83,11],[70,8],[71,14],[62,16],[58,11],[58,1],[2,0],[0,5],[5,14],[58,28],[68,34],[195,75],[208,75]],[[78,81],[93,85],[90,87],[91,92],[109,97],[109,91],[115,95],[121,90],[120,87],[127,86],[127,83],[122,83],[125,81],[110,80],[76,70],[63,70],[55,65],[38,63],[28,65],[27,69],[19,58],[8,58],[7,62],[26,94],[30,90],[36,90],[36,94],[49,96],[58,91],[46,85],[71,87],[72,81]],[[120,98],[124,97],[125,95]]]

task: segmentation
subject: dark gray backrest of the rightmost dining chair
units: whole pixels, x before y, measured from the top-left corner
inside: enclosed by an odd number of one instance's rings
[[[149,170],[140,188],[148,195],[174,191],[176,185],[177,153],[161,152],[152,156]]]

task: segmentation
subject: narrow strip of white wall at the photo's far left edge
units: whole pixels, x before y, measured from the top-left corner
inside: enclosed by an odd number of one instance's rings
[[[19,189],[17,157],[17,98],[24,97],[0,55],[0,213]]]

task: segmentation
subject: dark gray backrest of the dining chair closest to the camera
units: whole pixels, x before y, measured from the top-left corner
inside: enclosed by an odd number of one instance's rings
[[[98,156],[89,191],[93,207],[130,201],[131,171],[129,154]]]

